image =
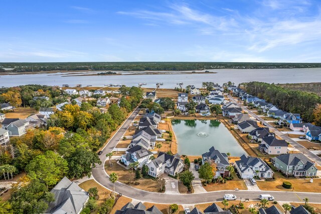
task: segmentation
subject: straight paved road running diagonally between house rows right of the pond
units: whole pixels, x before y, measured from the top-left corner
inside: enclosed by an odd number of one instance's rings
[[[321,158],[318,157],[317,155],[313,154],[311,151],[306,149],[305,147],[301,146],[299,143],[295,142],[292,140],[290,137],[288,137],[286,134],[280,132],[279,130],[275,129],[273,126],[271,126],[269,123],[264,121],[262,118],[258,117],[255,115],[252,111],[247,109],[245,106],[240,105],[231,95],[227,94],[227,96],[230,98],[231,101],[235,102],[240,108],[242,108],[244,111],[247,111],[250,116],[252,116],[255,119],[259,119],[259,121],[262,121],[262,123],[266,123],[266,127],[268,127],[271,131],[273,131],[277,136],[282,138],[283,140],[289,142],[295,149],[299,150],[302,152],[305,156],[310,158],[312,161],[317,163],[318,165],[321,166]]]

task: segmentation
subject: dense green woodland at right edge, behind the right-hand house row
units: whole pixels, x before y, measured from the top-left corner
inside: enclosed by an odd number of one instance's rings
[[[311,92],[292,90],[265,82],[247,82],[242,85],[249,94],[266,99],[283,111],[298,113],[306,122],[314,121],[313,109],[317,103],[321,103],[321,97]]]

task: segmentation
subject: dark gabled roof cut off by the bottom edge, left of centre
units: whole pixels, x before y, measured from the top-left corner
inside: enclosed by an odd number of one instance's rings
[[[142,202],[137,203],[135,206],[128,202],[126,203],[120,210],[116,210],[115,214],[162,214],[161,210],[159,210],[155,205],[146,209],[146,206],[142,204]]]

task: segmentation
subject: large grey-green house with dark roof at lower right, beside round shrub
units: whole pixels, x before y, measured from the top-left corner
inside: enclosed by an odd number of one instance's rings
[[[315,163],[302,153],[279,155],[272,162],[285,175],[314,176],[317,173]]]

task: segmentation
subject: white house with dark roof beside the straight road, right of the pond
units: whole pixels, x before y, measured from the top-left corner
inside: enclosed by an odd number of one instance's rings
[[[262,138],[262,142],[258,149],[269,155],[280,155],[287,152],[287,143],[285,140],[278,140],[274,136],[266,136]]]

